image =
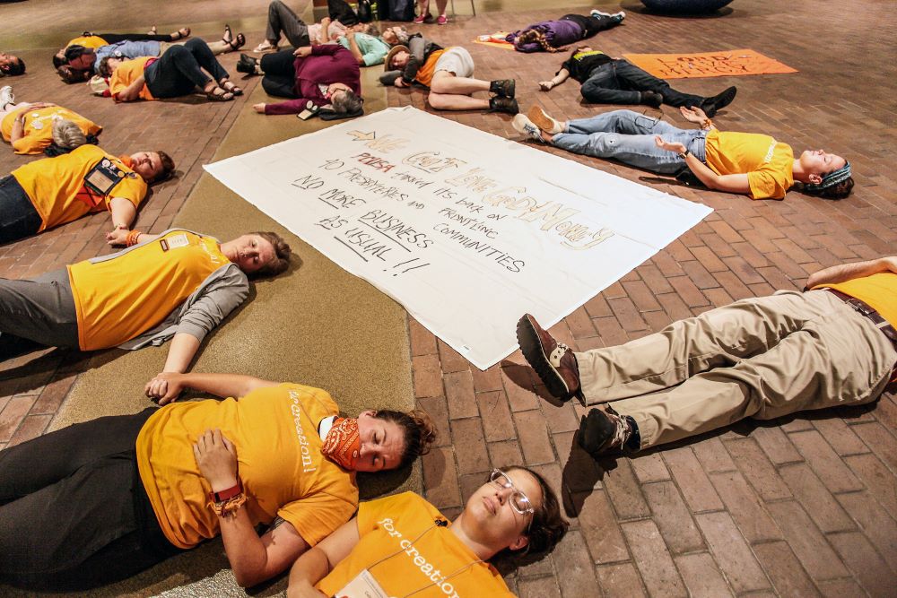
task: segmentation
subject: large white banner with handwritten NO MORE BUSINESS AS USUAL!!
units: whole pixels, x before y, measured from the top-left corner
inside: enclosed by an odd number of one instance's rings
[[[482,369],[711,212],[410,107],[205,169]]]

